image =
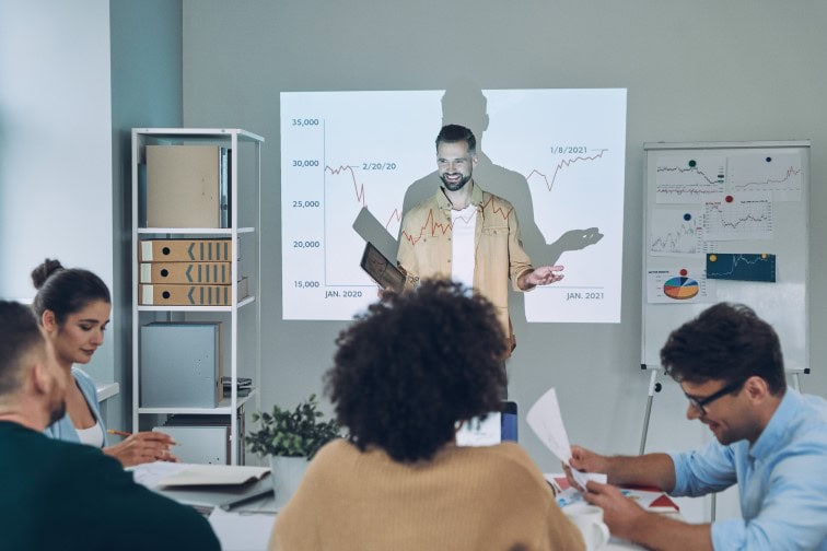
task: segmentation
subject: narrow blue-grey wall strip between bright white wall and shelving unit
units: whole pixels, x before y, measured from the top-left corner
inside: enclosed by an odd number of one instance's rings
[[[113,327],[120,395],[108,423],[132,422],[131,129],[182,125],[182,5],[175,0],[110,1]]]

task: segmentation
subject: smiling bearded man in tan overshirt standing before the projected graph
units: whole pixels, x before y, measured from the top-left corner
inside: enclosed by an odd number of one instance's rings
[[[459,125],[442,127],[436,137],[435,195],[405,213],[397,261],[407,285],[421,279],[462,282],[491,301],[509,339],[515,345],[509,318],[509,279],[515,290],[560,281],[562,266],[534,268],[523,249],[513,206],[485,191],[473,177],[477,164],[474,133]]]

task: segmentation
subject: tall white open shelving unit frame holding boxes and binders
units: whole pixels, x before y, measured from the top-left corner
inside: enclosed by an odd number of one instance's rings
[[[140,406],[140,328],[142,325],[159,321],[162,318],[167,321],[187,321],[189,319],[221,320],[223,324],[223,343],[225,352],[224,374],[235,382],[240,376],[252,377],[254,384],[261,379],[261,304],[256,296],[260,296],[261,282],[261,142],[264,138],[238,128],[133,128],[132,129],[132,430],[147,430],[155,423],[163,423],[164,415],[195,414],[195,415],[226,415],[230,426],[230,444],[233,453],[230,454],[230,462],[236,465],[238,455],[243,457],[244,450],[240,449],[243,427],[243,419],[240,422],[238,412],[247,403],[255,403],[255,409],[260,410],[260,394],[252,390],[245,397],[236,395],[235,400],[222,399],[214,408],[191,407],[141,407]],[[242,145],[242,143],[244,143]],[[231,227],[139,227],[139,164],[144,162],[145,146],[151,144],[210,144],[226,146],[230,152],[230,220],[244,221],[244,226]],[[255,155],[244,159],[244,166],[240,159],[240,150],[253,148]],[[244,214],[240,218],[240,211]],[[249,224],[253,225],[249,225]],[[245,235],[242,238],[242,235]],[[229,306],[161,306],[141,305],[138,302],[139,278],[138,270],[141,262],[138,261],[138,247],[141,241],[151,238],[201,238],[201,237],[230,237],[233,239],[233,255],[231,263],[231,281],[237,281],[242,276],[249,278],[249,296]],[[245,270],[252,272],[241,273],[242,261],[240,254],[244,256]],[[252,253],[251,253],[252,251]],[[237,296],[238,286],[232,283],[233,295]],[[254,307],[254,316],[251,316],[249,307]],[[244,308],[245,314],[240,316]],[[189,317],[189,314],[194,314]],[[198,314],[198,315],[195,315]],[[210,316],[209,314],[214,314]],[[255,350],[241,349],[242,335],[255,335]],[[240,354],[240,352],[244,352]],[[229,364],[229,365],[228,365]],[[254,400],[254,401],[251,401]],[[161,419],[158,419],[161,417]],[[141,420],[144,419],[143,425]]]

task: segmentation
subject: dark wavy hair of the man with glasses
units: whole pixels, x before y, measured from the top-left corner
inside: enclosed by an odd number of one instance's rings
[[[677,382],[731,384],[757,375],[772,395],[787,389],[776,330],[743,304],[715,304],[672,331],[661,350],[661,365]]]

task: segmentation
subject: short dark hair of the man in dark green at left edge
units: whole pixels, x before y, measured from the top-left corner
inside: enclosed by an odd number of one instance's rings
[[[32,308],[0,301],[0,400],[20,388],[26,354],[44,345]]]

